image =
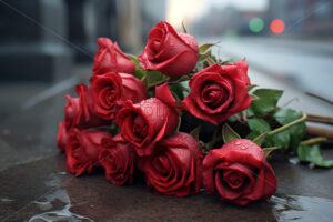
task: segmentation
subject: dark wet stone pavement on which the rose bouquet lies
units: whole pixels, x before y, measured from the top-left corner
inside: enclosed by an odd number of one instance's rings
[[[274,82],[251,70],[259,82]],[[81,80],[80,80],[81,81]],[[278,85],[276,85],[278,84]],[[64,89],[64,88],[63,88]],[[286,98],[294,97],[285,89]],[[203,192],[188,198],[148,191],[142,176],[133,185],[117,186],[102,171],[74,178],[56,144],[63,118],[63,94],[57,92],[32,105],[18,107],[0,123],[0,221],[332,221],[333,170],[293,164],[294,159],[271,160],[279,190],[270,201],[248,206],[223,203]],[[292,92],[292,95],[290,93]],[[301,94],[296,94],[297,97]],[[330,113],[311,98],[295,103]],[[303,100],[303,101],[304,101]],[[316,108],[311,108],[316,104]],[[307,108],[309,107],[309,108]],[[324,150],[333,159],[333,149]]]

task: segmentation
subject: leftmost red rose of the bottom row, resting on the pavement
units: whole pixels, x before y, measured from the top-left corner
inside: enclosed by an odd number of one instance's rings
[[[77,176],[85,170],[88,173],[98,167],[100,144],[102,139],[112,138],[110,133],[101,130],[80,131],[72,128],[68,134],[65,145],[67,165]]]

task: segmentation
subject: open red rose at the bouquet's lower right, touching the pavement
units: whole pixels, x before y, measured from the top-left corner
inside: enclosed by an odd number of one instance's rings
[[[245,139],[231,140],[209,151],[202,174],[208,194],[218,192],[223,201],[241,205],[269,199],[276,191],[274,171],[262,149]]]

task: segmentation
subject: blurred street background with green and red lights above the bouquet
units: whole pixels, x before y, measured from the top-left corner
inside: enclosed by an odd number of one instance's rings
[[[98,37],[140,54],[160,20],[333,100],[332,0],[0,0],[0,120],[89,77]]]

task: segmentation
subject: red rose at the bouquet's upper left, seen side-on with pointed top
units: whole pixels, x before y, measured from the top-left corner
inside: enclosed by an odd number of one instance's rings
[[[135,71],[134,62],[128,58],[118,47],[108,38],[99,38],[100,49],[94,56],[93,73],[104,74],[107,72],[124,72],[133,74]]]

